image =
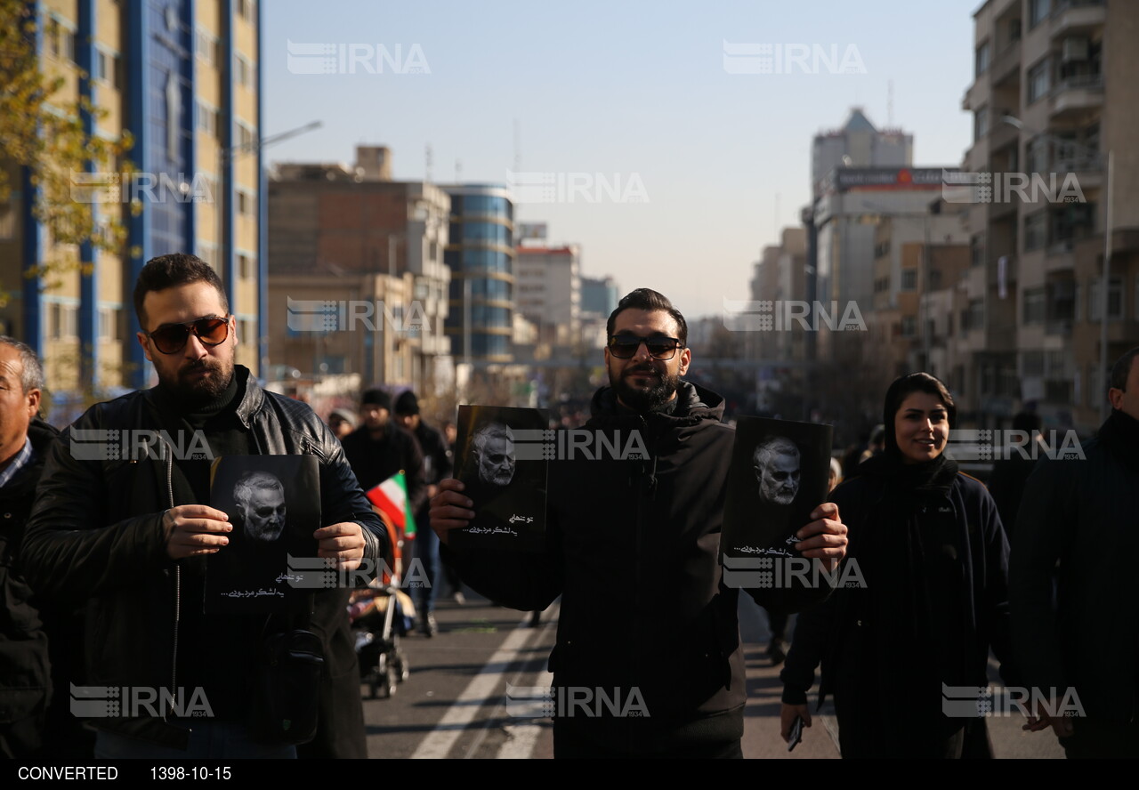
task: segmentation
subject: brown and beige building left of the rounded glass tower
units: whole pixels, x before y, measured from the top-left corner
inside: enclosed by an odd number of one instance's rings
[[[274,167],[273,362],[312,377],[359,373],[364,386],[421,390],[453,379],[444,330],[451,273],[443,262],[451,199],[434,184],[391,179],[390,151],[374,146],[359,147],[353,166]],[[322,318],[306,324],[302,313]]]

